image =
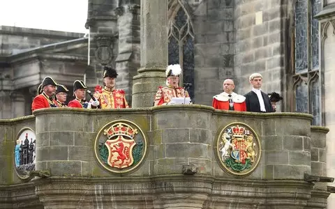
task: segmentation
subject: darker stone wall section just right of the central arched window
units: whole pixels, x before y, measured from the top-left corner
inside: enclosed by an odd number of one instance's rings
[[[194,31],[195,102],[211,105],[234,75],[234,1],[188,1]]]

